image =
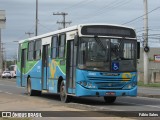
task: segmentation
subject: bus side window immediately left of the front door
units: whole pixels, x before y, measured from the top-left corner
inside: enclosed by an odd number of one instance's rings
[[[59,38],[59,54],[58,57],[59,58],[64,58],[65,55],[65,44],[66,44],[66,36],[65,34],[60,35]]]

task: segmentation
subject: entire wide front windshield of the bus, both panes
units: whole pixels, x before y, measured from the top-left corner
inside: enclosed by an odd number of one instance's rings
[[[136,41],[105,37],[82,37],[79,42],[78,67],[86,70],[118,71],[136,70]]]

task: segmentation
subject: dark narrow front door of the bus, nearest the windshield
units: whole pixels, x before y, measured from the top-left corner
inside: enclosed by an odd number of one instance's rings
[[[66,59],[66,90],[67,93],[75,93],[75,72],[76,72],[76,51],[74,41],[67,42],[67,59]]]

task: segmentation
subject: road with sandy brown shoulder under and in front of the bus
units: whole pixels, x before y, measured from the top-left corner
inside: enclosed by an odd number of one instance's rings
[[[18,104],[18,105],[17,105]],[[106,104],[101,97],[74,97],[70,103],[61,103],[59,95],[43,94],[42,96],[30,97],[26,95],[24,88],[16,87],[15,80],[0,80],[0,111],[110,111],[110,116],[117,116],[114,111],[128,114],[135,111],[136,115],[158,115],[160,117],[160,98],[147,97],[119,97],[114,104]],[[121,113],[121,111],[125,111]],[[113,113],[113,115],[112,115]],[[142,114],[144,113],[144,114]],[[56,113],[55,113],[56,114]],[[84,115],[82,112],[81,114]],[[87,113],[86,113],[87,114]],[[82,116],[83,116],[82,115]],[[93,114],[99,116],[99,114]],[[125,116],[124,115],[124,116]],[[103,115],[102,115],[103,116]],[[122,115],[123,117],[123,115]],[[134,115],[132,117],[135,117]],[[137,116],[138,117],[138,116]],[[145,116],[146,117],[146,116]],[[143,119],[146,119],[143,117]]]

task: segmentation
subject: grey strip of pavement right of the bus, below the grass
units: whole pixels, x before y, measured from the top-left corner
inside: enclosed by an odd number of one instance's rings
[[[158,87],[138,87],[138,96],[160,98],[160,88]]]

